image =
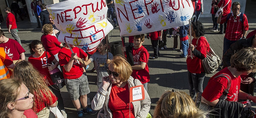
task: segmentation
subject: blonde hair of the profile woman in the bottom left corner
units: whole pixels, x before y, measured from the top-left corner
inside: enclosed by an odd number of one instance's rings
[[[19,79],[0,80],[0,118],[10,118],[7,105],[17,99],[21,84]]]

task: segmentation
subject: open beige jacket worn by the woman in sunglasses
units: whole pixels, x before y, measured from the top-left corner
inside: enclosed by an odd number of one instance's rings
[[[129,85],[129,88],[135,85],[142,85],[140,80],[138,79],[134,80],[131,76],[127,80],[127,83]],[[112,118],[111,110],[108,107],[108,100],[109,100],[111,87],[112,87],[112,83],[110,83],[108,91],[105,91],[101,85],[101,87],[99,88],[98,92],[96,93],[96,95],[92,100],[92,109],[100,110],[97,118]],[[144,100],[132,102],[132,105],[134,107],[135,118],[146,118],[148,115],[151,101],[148,96],[148,92],[146,92],[145,88],[144,88],[144,91],[145,91]],[[127,97],[129,97],[129,95],[127,95]]]

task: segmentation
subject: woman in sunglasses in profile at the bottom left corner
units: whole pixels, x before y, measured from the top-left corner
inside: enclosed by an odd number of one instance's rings
[[[37,118],[33,107],[34,95],[19,79],[0,81],[0,118]]]

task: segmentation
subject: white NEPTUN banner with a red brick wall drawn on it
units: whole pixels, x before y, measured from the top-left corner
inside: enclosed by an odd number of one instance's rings
[[[87,52],[95,51],[113,29],[105,0],[67,0],[46,7],[60,30],[58,40]]]

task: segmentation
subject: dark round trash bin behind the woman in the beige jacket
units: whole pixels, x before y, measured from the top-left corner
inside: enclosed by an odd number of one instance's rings
[[[108,52],[111,52],[113,54],[113,56],[118,55],[118,54],[123,55],[122,47],[123,47],[122,41],[110,42],[110,43],[108,43]]]

